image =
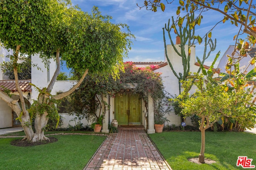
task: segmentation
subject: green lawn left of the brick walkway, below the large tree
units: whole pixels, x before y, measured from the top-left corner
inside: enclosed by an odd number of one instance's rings
[[[74,132],[73,132],[74,133]],[[0,170],[78,170],[83,169],[106,136],[56,135],[55,143],[16,147],[18,138],[0,139]]]

